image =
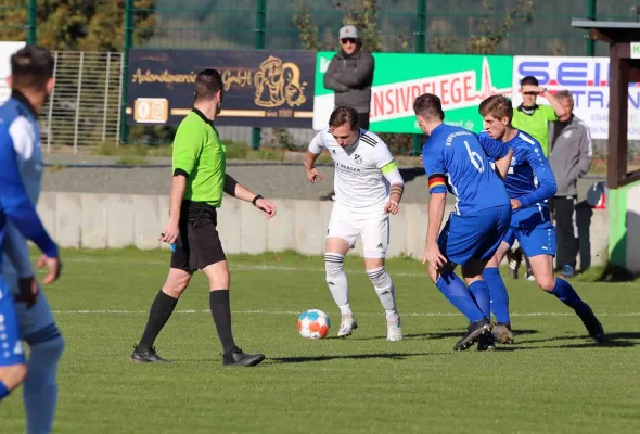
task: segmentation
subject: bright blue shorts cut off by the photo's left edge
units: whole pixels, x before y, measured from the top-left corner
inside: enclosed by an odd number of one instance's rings
[[[13,296],[7,282],[0,277],[0,367],[24,362],[25,354]]]

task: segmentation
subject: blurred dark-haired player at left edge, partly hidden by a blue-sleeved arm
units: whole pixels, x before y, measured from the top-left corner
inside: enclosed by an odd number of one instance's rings
[[[0,106],[0,120],[9,129],[22,183],[34,206],[40,195],[44,163],[37,118],[53,90],[53,66],[51,53],[40,47],[27,46],[13,54],[12,94]],[[55,412],[57,362],[64,340],[34,277],[26,239],[11,221],[7,225],[2,251],[2,276],[13,292],[23,340],[30,348],[23,384],[27,432],[49,433]]]

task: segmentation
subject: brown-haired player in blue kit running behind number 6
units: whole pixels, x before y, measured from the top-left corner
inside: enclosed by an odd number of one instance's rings
[[[491,310],[497,321],[492,329],[494,339],[499,343],[513,342],[509,296],[498,266],[517,240],[530,260],[538,285],[574,309],[596,342],[604,342],[602,324],[589,305],[580,299],[571,283],[553,275],[555,228],[549,216],[548,200],[555,194],[556,184],[540,143],[512,127],[513,106],[509,99],[502,95],[489,97],[481,103],[479,113],[486,129],[479,133],[481,141],[500,140],[513,149],[511,167],[504,181],[513,208],[511,228],[483,273],[489,286]]]

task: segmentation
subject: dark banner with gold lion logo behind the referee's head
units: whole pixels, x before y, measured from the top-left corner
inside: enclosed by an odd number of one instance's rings
[[[178,125],[193,106],[196,75],[222,75],[220,126],[310,128],[316,52],[131,50],[128,124]]]

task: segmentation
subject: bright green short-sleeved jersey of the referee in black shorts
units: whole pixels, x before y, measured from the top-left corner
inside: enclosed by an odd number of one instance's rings
[[[202,112],[193,108],[176,131],[172,151],[174,174],[187,174],[184,200],[222,204],[227,152],[218,131]]]

